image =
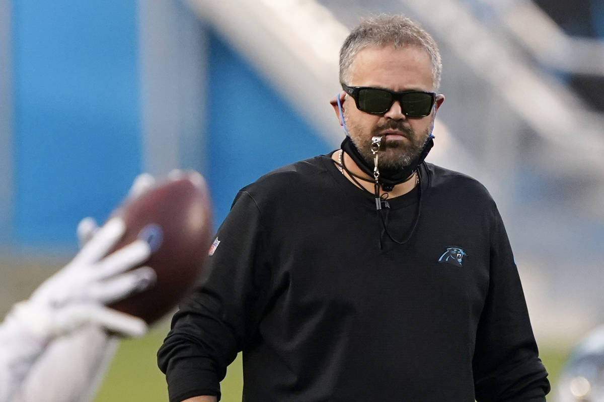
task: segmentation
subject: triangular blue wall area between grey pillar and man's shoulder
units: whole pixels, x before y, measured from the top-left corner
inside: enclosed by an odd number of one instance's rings
[[[208,64],[207,179],[219,223],[241,187],[279,166],[332,149],[213,33]],[[327,99],[325,107],[330,107]]]

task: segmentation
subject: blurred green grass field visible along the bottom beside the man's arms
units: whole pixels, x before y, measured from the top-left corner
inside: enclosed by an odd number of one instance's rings
[[[144,338],[122,341],[95,402],[167,402],[164,375],[157,368],[155,360],[155,353],[167,330],[164,325],[150,331]],[[552,388],[567,356],[568,350],[541,346],[541,359],[550,372]],[[221,401],[240,402],[242,385],[239,356],[229,366],[226,378],[220,385],[223,393]]]

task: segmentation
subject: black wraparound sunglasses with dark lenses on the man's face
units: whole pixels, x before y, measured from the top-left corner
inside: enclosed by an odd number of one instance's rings
[[[356,108],[371,115],[384,115],[390,110],[394,101],[399,101],[405,116],[423,118],[431,113],[436,101],[434,92],[415,90],[394,92],[383,88],[349,87],[346,84],[342,84],[342,89],[355,99]]]

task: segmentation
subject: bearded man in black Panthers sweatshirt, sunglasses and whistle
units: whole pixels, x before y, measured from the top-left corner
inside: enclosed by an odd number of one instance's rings
[[[342,149],[237,194],[158,352],[170,401],[544,401],[509,241],[480,183],[424,163],[441,72],[415,22],[365,20],[331,103]]]

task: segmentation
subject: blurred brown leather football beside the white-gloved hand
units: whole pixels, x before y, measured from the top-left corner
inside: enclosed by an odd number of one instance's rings
[[[127,198],[112,216],[126,223],[114,250],[146,240],[152,254],[143,265],[155,270],[157,281],[109,307],[152,324],[170,312],[202,274],[213,231],[207,185],[198,172],[181,171]]]

